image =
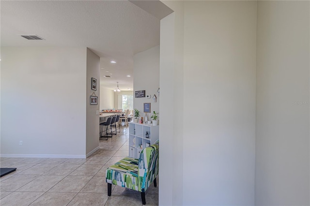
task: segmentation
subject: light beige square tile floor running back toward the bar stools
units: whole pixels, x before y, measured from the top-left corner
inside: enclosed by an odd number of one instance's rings
[[[0,178],[0,206],[141,206],[140,192],[112,186],[106,169],[128,156],[127,127],[87,159],[0,158],[1,167],[16,171]],[[146,205],[158,205],[157,187],[145,192]]]

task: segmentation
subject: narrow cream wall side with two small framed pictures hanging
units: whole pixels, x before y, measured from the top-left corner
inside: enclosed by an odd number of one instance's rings
[[[91,88],[92,78],[97,79],[97,90]],[[100,58],[90,49],[87,49],[86,79],[86,154],[89,156],[99,148],[99,103],[91,105],[90,96],[95,93],[98,101],[100,96]]]

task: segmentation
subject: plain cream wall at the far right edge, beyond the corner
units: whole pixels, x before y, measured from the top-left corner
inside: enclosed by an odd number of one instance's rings
[[[310,3],[258,1],[255,205],[310,205]]]

